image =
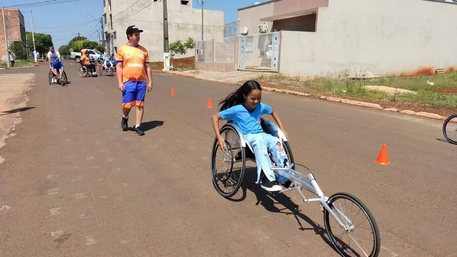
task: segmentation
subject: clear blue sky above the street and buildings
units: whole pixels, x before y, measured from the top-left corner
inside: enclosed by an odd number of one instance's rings
[[[0,0],[0,7],[23,5],[50,0]],[[62,1],[62,0],[59,0]],[[40,6],[12,7],[19,8],[24,15],[26,31],[32,31],[30,23],[30,10],[33,16],[33,29],[37,33],[50,34],[56,49],[66,45],[78,32],[93,41],[98,42],[97,29],[101,30],[100,17],[103,14],[104,0],[65,0],[66,3],[46,3]],[[176,1],[176,0],[167,0]],[[268,0],[204,0],[205,9],[224,11],[224,23],[236,21],[237,9],[250,6],[255,2]],[[133,2],[133,0],[132,0]],[[152,0],[151,0],[152,2]],[[193,8],[201,8],[200,1],[192,0]],[[92,15],[90,17],[87,12]],[[58,17],[58,18],[56,18]],[[95,21],[98,19],[98,21]]]

